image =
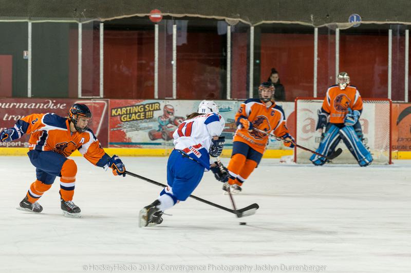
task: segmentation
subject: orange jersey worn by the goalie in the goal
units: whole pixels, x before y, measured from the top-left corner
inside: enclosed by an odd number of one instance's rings
[[[344,123],[348,108],[362,111],[363,101],[357,87],[348,85],[341,90],[338,85],[328,88],[323,102],[323,110],[330,114],[330,123]]]

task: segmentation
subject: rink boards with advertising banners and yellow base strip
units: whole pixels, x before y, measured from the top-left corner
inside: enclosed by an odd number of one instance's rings
[[[55,113],[66,116],[73,103],[86,103],[92,114],[91,128],[109,154],[119,156],[167,156],[173,148],[172,133],[184,117],[196,112],[199,100],[104,100],[104,99],[2,99],[0,131],[33,113]],[[242,100],[215,101],[226,120],[222,135],[226,137],[223,156],[231,155],[236,126],[234,116]],[[294,103],[278,102],[283,107],[287,126],[295,132]],[[411,159],[411,103],[393,103],[393,159]],[[307,126],[313,130],[312,126]],[[1,143],[0,155],[25,155],[28,136]],[[293,149],[270,139],[264,157],[292,155]],[[80,155],[78,152],[73,156]]]

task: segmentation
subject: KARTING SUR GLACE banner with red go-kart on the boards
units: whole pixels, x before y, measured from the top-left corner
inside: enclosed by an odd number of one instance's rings
[[[222,135],[232,143],[237,101],[215,101],[226,120]],[[110,100],[109,147],[171,148],[173,133],[186,116],[197,112],[199,101]]]

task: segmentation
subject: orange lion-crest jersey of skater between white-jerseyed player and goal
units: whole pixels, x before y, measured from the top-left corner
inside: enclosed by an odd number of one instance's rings
[[[253,128],[267,133],[273,131],[274,135],[278,137],[289,134],[283,108],[275,103],[267,108],[259,99],[248,99],[241,103],[235,115],[237,126],[240,124],[240,118],[247,118],[253,124]],[[245,128],[238,128],[235,131],[233,141],[244,142],[263,154],[267,146],[268,136],[256,131],[248,132]]]

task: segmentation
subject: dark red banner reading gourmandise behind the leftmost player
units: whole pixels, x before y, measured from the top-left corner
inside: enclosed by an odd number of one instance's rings
[[[108,101],[76,99],[2,99],[0,101],[0,132],[14,126],[14,123],[25,116],[37,113],[54,113],[66,117],[74,103],[86,104],[92,113],[91,129],[103,147],[108,144]],[[30,136],[12,142],[0,142],[0,147],[28,147]]]

